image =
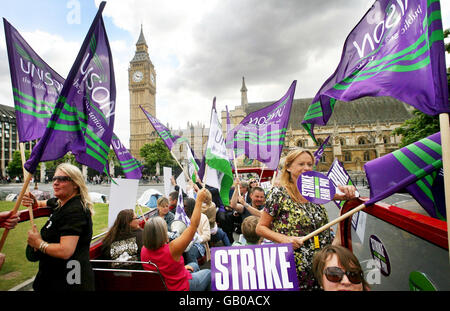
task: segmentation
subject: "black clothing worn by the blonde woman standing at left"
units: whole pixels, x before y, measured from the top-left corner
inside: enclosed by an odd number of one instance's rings
[[[33,284],[35,291],[94,290],[94,273],[89,262],[92,239],[92,218],[80,196],[71,198],[62,207],[57,199],[47,201],[52,214],[41,229],[47,243],[60,243],[63,236],[78,236],[75,252],[69,259],[40,254],[39,271]]]

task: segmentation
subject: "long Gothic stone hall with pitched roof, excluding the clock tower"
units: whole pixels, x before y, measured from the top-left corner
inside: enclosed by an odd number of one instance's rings
[[[248,103],[244,78],[241,88],[241,105],[229,112],[232,124],[238,124],[247,114],[266,107],[274,101]],[[317,146],[301,125],[312,98],[294,99],[283,155],[297,147],[314,152]],[[392,131],[412,117],[410,106],[391,97],[364,97],[351,102],[337,101],[326,126],[315,126],[319,142],[329,135],[331,147],[325,149],[318,165],[319,171],[328,171],[334,159],[344,164],[347,171],[362,172],[367,161],[398,149],[401,137]],[[226,124],[226,112],[222,111],[222,125]],[[238,166],[246,166],[241,158]],[[256,162],[256,161],[255,161]],[[255,162],[247,166],[255,166]],[[257,163],[256,166],[260,164]]]

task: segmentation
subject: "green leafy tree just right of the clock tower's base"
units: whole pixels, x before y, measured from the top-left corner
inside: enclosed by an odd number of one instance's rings
[[[159,162],[161,169],[166,167],[177,167],[177,162],[173,159],[166,144],[161,139],[152,144],[145,144],[140,150],[140,155],[144,158],[144,168],[147,174],[155,174],[156,163]]]

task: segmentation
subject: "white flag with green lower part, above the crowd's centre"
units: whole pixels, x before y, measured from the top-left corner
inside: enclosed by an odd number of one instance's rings
[[[233,172],[228,160],[222,126],[216,111],[216,98],[214,97],[211,110],[211,125],[209,127],[208,144],[205,155],[205,184],[217,188],[224,205],[230,204],[230,188],[233,185]]]

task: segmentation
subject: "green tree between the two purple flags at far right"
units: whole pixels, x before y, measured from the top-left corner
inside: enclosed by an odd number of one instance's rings
[[[392,135],[402,135],[399,147],[405,147],[422,138],[439,132],[439,116],[430,116],[414,109],[414,117],[406,120],[400,127],[392,131]]]

